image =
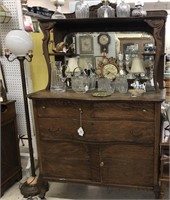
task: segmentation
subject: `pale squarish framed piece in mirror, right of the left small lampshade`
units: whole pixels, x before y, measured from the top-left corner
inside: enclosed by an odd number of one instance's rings
[[[80,56],[78,59],[78,65],[81,70],[87,69],[90,65],[94,69],[94,56],[86,55],[86,56]]]

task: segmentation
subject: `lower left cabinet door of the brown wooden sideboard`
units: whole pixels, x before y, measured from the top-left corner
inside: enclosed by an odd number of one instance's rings
[[[42,141],[40,173],[51,180],[91,180],[89,149],[72,141]]]

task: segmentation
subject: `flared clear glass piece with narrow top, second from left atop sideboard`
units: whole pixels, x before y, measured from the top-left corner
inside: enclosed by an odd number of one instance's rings
[[[115,9],[109,6],[109,1],[104,0],[102,3],[103,5],[97,10],[98,18],[115,17]]]

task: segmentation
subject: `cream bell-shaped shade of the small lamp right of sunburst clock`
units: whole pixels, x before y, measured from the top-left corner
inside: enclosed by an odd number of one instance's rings
[[[144,63],[143,60],[141,58],[134,57],[132,59],[132,66],[131,66],[131,73],[133,74],[139,74],[139,73],[144,73]]]

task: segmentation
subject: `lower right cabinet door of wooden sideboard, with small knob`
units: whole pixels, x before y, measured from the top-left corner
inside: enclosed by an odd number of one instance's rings
[[[153,147],[101,146],[101,176],[106,184],[153,186]]]

